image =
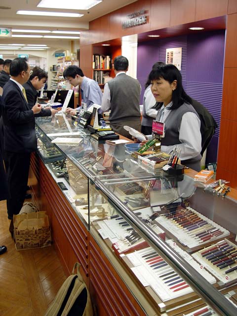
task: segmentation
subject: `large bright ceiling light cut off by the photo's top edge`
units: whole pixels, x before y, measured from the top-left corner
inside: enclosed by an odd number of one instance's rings
[[[88,10],[100,2],[102,2],[102,0],[41,0],[37,6],[40,8]]]

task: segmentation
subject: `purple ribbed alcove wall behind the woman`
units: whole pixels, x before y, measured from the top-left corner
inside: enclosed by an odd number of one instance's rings
[[[145,83],[153,64],[157,61],[165,62],[166,48],[173,47],[182,47],[181,75],[185,91],[203,104],[218,124],[206,155],[206,163],[216,162],[222,105],[225,30],[138,43],[137,79],[142,86],[141,104]]]

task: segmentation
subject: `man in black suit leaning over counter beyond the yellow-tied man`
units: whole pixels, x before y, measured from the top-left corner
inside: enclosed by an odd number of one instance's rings
[[[36,104],[38,90],[42,88],[47,78],[47,73],[40,67],[36,66],[33,68],[30,79],[23,84],[26,90],[28,105],[31,108]],[[40,113],[36,114],[35,117],[50,117],[51,115],[54,116],[55,113],[57,113],[57,110],[46,107],[42,109]]]

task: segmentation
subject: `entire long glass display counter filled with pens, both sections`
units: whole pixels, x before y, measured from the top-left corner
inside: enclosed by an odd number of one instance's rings
[[[145,314],[237,315],[236,200],[66,116],[36,124],[40,158]]]

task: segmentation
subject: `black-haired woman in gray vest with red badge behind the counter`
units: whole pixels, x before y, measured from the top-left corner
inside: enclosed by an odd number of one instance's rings
[[[158,102],[156,120],[164,122],[165,136],[161,151],[169,153],[175,146],[181,149],[181,163],[200,171],[200,120],[191,98],[182,86],[182,76],[174,65],[160,65],[149,75],[151,90]],[[147,135],[151,139],[152,135]]]

